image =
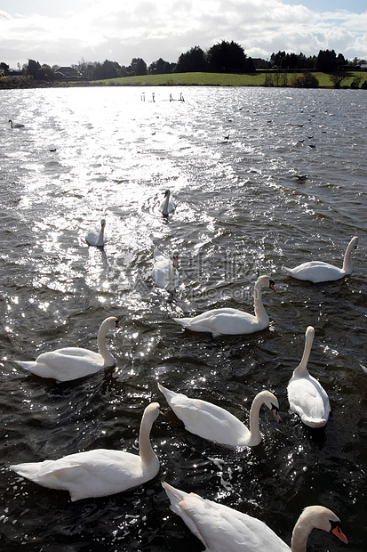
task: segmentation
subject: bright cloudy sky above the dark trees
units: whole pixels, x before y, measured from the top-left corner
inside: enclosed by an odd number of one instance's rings
[[[1,0],[0,61],[163,58],[234,40],[251,57],[335,50],[367,58],[366,0]]]

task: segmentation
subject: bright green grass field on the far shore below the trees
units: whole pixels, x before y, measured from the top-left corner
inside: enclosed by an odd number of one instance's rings
[[[264,86],[268,85],[291,86],[294,77],[299,73],[276,73],[275,71],[256,71],[245,75],[224,73],[171,73],[169,75],[146,75],[142,77],[120,77],[108,80],[92,81],[91,85],[119,85],[119,86]],[[333,84],[328,73],[313,73],[321,88],[332,88]],[[361,71],[347,71],[340,88],[349,87],[355,77],[362,77],[361,84],[367,80],[367,73]],[[272,83],[272,84],[271,84]]]

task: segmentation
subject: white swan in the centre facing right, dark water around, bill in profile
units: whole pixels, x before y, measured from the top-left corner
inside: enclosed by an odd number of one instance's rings
[[[259,276],[253,289],[255,316],[237,309],[222,308],[206,311],[194,318],[175,318],[173,320],[192,331],[211,332],[213,337],[221,334],[230,336],[252,334],[269,325],[269,317],[262,304],[261,289],[268,287],[275,291],[274,286],[275,283],[269,276]]]

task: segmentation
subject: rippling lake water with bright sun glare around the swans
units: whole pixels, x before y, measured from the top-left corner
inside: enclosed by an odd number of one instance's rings
[[[307,550],[365,550],[367,94],[76,88],[1,91],[0,105],[2,549],[200,551],[169,509],[166,480],[259,517],[287,543],[302,508],[322,504],[349,544],[315,531]],[[178,203],[168,219],[166,189]],[[102,217],[108,245],[89,248],[85,231]],[[312,259],[341,266],[354,235],[350,277],[314,285],[283,272]],[[150,279],[155,247],[180,250],[174,298]],[[276,293],[263,292],[268,329],[212,338],[172,320],[218,306],[252,313],[259,274],[275,280]],[[107,338],[114,369],[56,384],[14,362],[96,350],[111,315],[123,327]],[[321,430],[290,414],[286,395],[309,325],[308,369],[331,402]],[[282,421],[263,407],[263,441],[232,451],[188,433],[157,382],[246,424],[269,389]],[[164,412],[151,433],[161,472],[140,488],[71,503],[9,469],[100,447],[137,452],[152,401]]]

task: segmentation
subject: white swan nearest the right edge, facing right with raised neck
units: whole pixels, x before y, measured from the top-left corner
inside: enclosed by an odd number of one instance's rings
[[[350,255],[357,245],[358,237],[355,236],[349,241],[342,268],[338,268],[333,264],[324,263],[323,261],[310,261],[309,263],[299,264],[295,268],[283,266],[283,270],[291,274],[293,278],[297,278],[297,280],[309,280],[314,284],[322,281],[339,280],[352,273],[353,269]]]

